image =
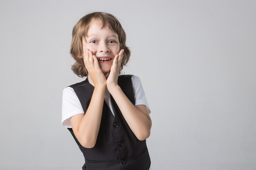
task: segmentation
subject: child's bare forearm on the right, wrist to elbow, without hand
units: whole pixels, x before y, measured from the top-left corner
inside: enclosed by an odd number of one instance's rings
[[[135,136],[139,140],[148,138],[152,122],[146,106],[134,106],[118,85],[108,88],[108,90]]]

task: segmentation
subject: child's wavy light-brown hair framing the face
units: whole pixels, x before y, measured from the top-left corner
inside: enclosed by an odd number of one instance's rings
[[[110,30],[117,33],[120,43],[119,50],[124,49],[124,57],[121,62],[120,71],[123,69],[130,58],[130,50],[126,46],[126,33],[124,32],[124,29],[117,18],[110,13],[89,13],[76,23],[72,31],[70,54],[76,60],[76,62],[72,65],[72,71],[79,77],[88,76],[88,71],[85,68],[83,57],[81,56],[83,56],[83,38],[87,36],[89,24],[93,19],[101,20],[102,27],[108,26]]]

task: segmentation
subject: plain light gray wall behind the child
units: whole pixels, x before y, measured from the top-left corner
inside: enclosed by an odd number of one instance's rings
[[[71,32],[92,11],[127,33],[124,71],[152,110],[153,170],[256,169],[256,1],[1,0],[1,170],[81,169],[61,99],[83,81],[70,69]]]

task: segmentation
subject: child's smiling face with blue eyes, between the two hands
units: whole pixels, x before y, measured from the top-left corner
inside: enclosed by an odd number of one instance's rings
[[[99,66],[104,74],[110,71],[115,55],[119,53],[120,44],[118,35],[108,26],[102,27],[101,20],[90,22],[87,37],[83,40],[83,51],[92,51],[98,58]]]

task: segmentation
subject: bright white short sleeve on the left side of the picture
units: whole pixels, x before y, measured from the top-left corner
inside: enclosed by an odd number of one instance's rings
[[[72,128],[70,117],[81,113],[83,114],[84,111],[74,89],[71,87],[64,88],[62,95],[62,126]]]

